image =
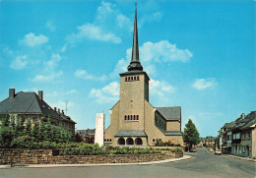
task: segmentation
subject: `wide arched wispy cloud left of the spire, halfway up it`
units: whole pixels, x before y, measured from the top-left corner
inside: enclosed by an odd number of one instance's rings
[[[71,43],[81,41],[84,38],[95,39],[98,41],[110,41],[113,43],[120,43],[122,40],[112,32],[104,32],[99,27],[93,24],[86,24],[78,27],[78,32],[73,33],[67,37]]]

